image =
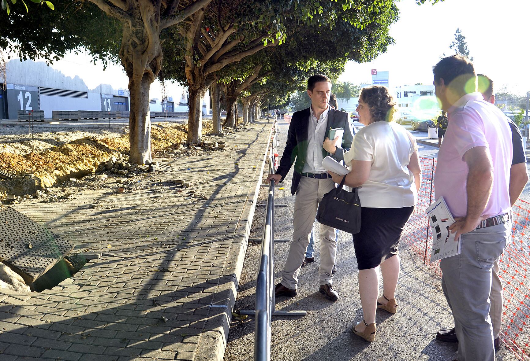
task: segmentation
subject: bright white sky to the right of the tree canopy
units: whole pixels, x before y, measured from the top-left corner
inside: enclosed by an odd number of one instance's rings
[[[387,70],[390,86],[432,84],[432,66],[445,53],[457,28],[466,38],[475,71],[489,76],[496,88],[530,91],[527,0],[445,0],[418,6],[401,0],[400,19],[390,27],[395,44],[372,62],[348,62],[341,82],[371,84],[371,69]]]

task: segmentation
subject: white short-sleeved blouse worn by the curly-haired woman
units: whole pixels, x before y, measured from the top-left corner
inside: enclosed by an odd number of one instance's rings
[[[414,175],[407,168],[410,157],[418,150],[412,134],[395,122],[373,122],[360,129],[351,149],[344,154],[347,166],[351,160],[372,162],[368,180],[358,187],[361,206],[401,208],[416,204],[418,194]]]

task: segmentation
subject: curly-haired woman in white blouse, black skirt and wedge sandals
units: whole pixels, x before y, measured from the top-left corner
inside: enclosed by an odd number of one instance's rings
[[[357,112],[365,127],[344,155],[351,167],[345,184],[358,188],[361,202],[360,232],[353,239],[364,319],[355,324],[353,332],[372,342],[376,309],[390,313],[398,309],[394,297],[400,270],[398,245],[416,205],[421,174],[416,140],[393,121],[396,103],[386,87],[364,88]],[[331,175],[335,183],[341,182],[342,176]],[[383,275],[381,297],[379,268]]]

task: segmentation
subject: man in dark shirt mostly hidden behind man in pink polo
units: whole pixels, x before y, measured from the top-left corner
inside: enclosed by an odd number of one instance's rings
[[[490,78],[483,74],[478,75],[479,91],[482,93],[484,100],[495,104],[495,94],[493,94],[493,82]],[[484,84],[481,86],[481,84]],[[511,142],[513,144],[513,157],[511,159],[510,167],[510,184],[508,191],[510,193],[510,204],[514,206],[517,198],[523,191],[523,188],[528,182],[528,174],[526,172],[526,155],[523,148],[523,137],[517,124],[513,120],[506,117],[511,130]],[[439,137],[439,136],[438,136]],[[491,292],[490,292],[490,318],[493,326],[493,344],[497,350],[500,346],[499,332],[502,319],[502,284],[500,282],[499,260],[493,263],[493,273],[491,277]],[[441,330],[436,334],[436,338],[446,342],[458,342],[456,338],[455,329]]]

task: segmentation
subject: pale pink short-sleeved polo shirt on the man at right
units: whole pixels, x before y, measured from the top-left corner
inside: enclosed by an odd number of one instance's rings
[[[444,197],[453,216],[465,216],[469,168],[463,157],[471,148],[487,147],[493,163],[493,187],[482,215],[507,213],[512,143],[505,115],[480,93],[464,95],[447,113],[449,121],[434,178],[436,198]]]

